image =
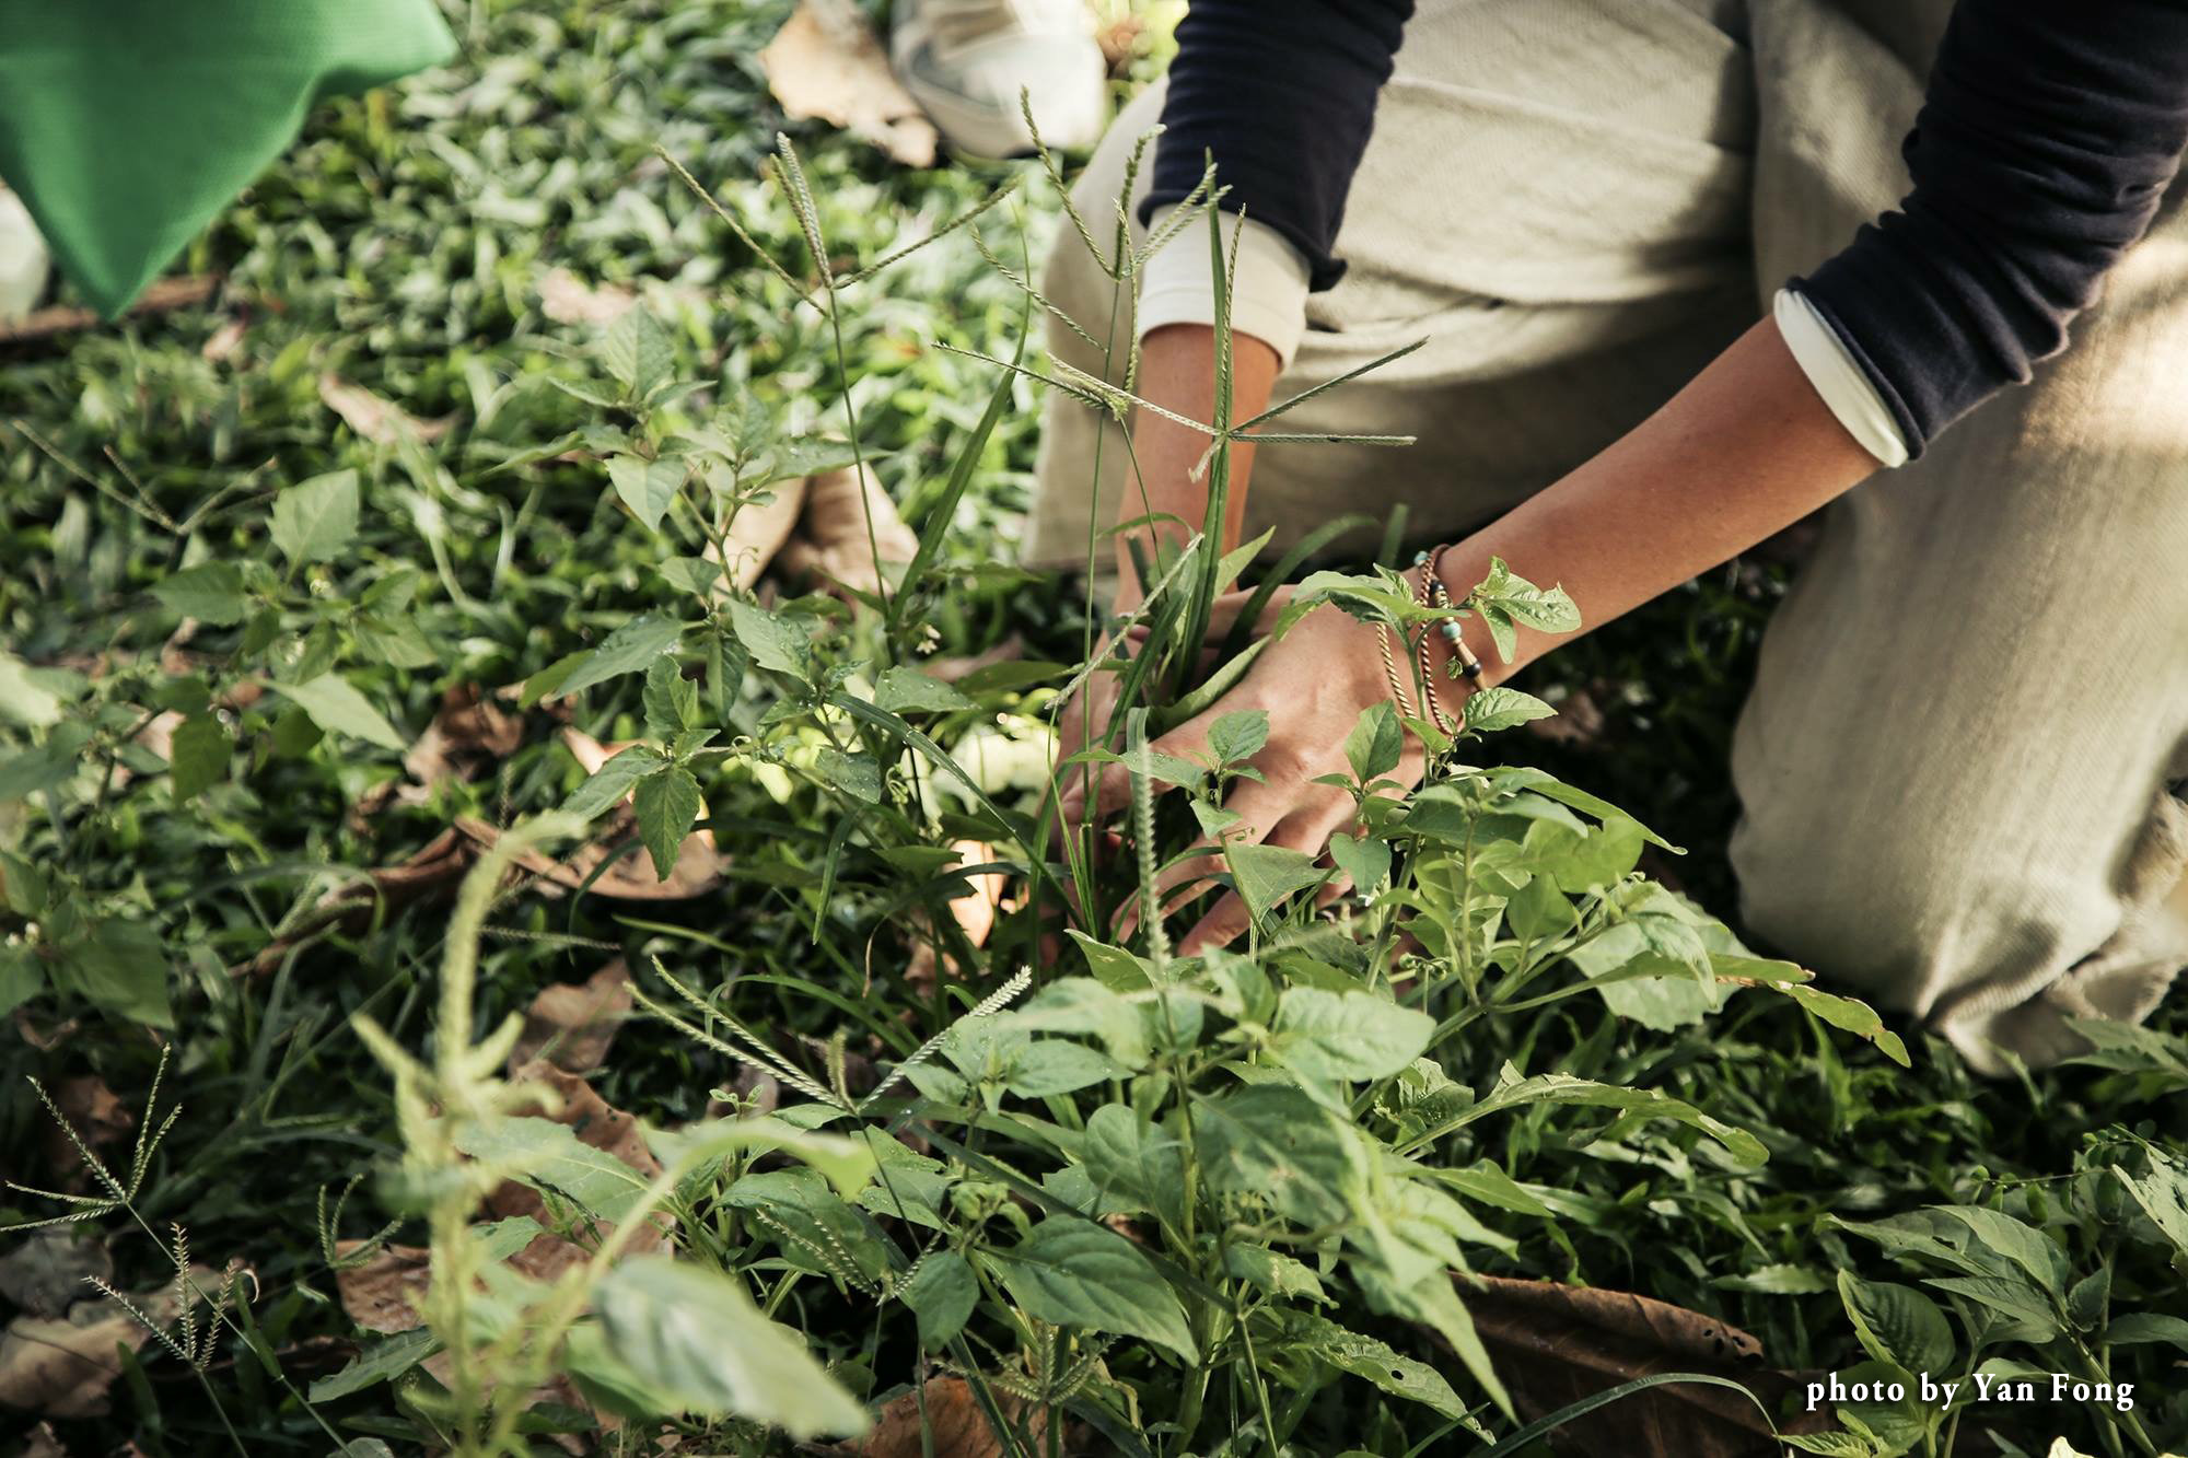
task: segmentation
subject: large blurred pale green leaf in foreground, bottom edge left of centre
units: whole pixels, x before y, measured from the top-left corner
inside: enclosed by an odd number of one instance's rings
[[[792,1329],[770,1322],[707,1265],[632,1257],[602,1276],[593,1309],[608,1351],[685,1412],[737,1416],[792,1438],[856,1434],[866,1410]]]

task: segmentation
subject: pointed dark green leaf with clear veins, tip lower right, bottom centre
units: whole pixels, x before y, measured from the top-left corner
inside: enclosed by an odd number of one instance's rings
[[[1011,1300],[1035,1320],[1136,1335],[1197,1357],[1186,1309],[1140,1248],[1107,1226],[1050,1215],[1009,1250],[989,1250]]]

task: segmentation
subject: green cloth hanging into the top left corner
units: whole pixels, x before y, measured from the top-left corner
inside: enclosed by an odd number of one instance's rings
[[[313,103],[453,55],[433,0],[0,0],[0,182],[114,317]]]

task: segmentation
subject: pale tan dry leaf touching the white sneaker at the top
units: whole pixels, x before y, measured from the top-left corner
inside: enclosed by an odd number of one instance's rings
[[[849,0],[799,0],[759,68],[788,116],[818,116],[906,166],[934,166],[934,123],[891,74],[882,42]]]

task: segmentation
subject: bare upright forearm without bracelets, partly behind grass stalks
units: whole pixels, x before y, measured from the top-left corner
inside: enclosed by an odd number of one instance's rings
[[[1217,368],[1214,331],[1206,324],[1166,324],[1140,342],[1140,396],[1175,409],[1190,420],[1214,420]],[[1260,339],[1232,335],[1232,420],[1245,420],[1269,407],[1278,359]],[[1116,534],[1118,591],[1122,602],[1138,602],[1140,582],[1131,565],[1131,539],[1149,547],[1182,545],[1201,530],[1208,517],[1208,475],[1192,471],[1208,455],[1208,436],[1164,420],[1151,409],[1136,414],[1131,425],[1131,462],[1118,501],[1118,523],[1142,525]],[[1254,475],[1254,447],[1234,444],[1230,458],[1230,495],[1223,521],[1223,549],[1238,545],[1238,523],[1245,519],[1245,493]],[[1175,517],[1153,521],[1149,517]]]

